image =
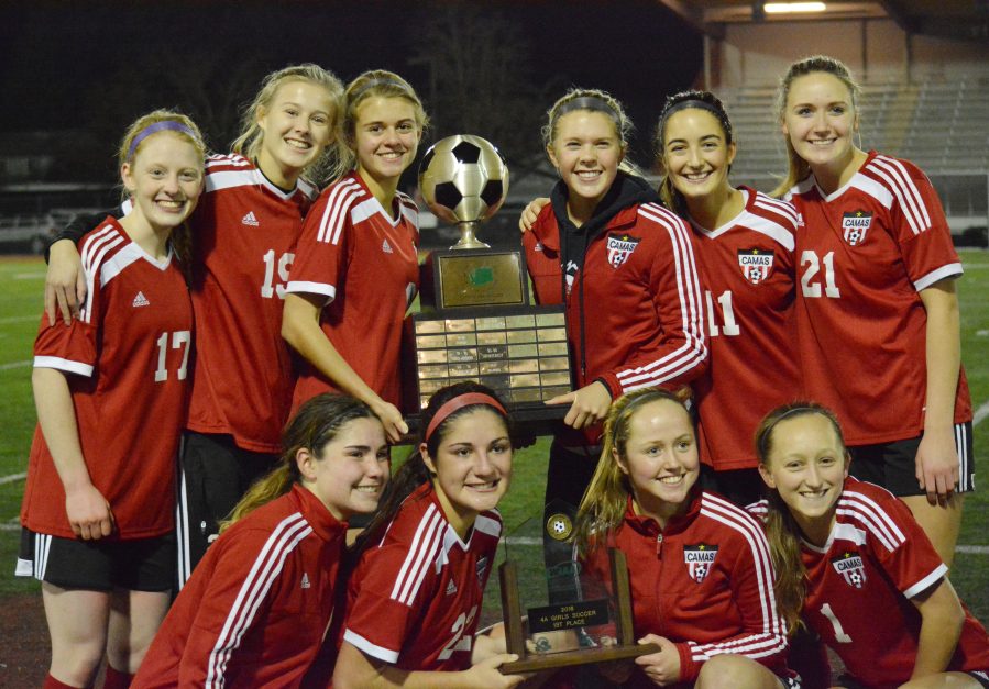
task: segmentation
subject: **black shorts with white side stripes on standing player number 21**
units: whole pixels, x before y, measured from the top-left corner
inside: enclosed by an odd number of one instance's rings
[[[923,433],[905,441],[849,447],[848,470],[858,480],[882,486],[898,498],[925,496],[916,480],[916,451],[922,437]],[[975,490],[971,421],[955,424],[955,448],[960,463],[955,492],[971,492]]]

